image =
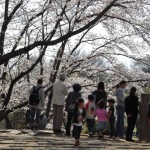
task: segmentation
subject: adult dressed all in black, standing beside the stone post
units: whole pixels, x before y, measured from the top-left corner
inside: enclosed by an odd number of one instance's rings
[[[136,88],[132,87],[129,96],[125,98],[125,112],[127,114],[128,124],[126,141],[134,142],[134,140],[132,139],[132,135],[138,116],[138,104],[139,100],[136,96]]]

